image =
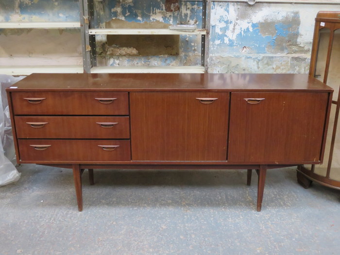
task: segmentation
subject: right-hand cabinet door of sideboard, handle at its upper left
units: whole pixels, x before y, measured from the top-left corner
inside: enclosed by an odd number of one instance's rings
[[[327,104],[328,93],[231,93],[228,161],[319,161]]]

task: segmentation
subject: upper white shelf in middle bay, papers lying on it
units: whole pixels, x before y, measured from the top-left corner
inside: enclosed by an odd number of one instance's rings
[[[206,34],[205,29],[176,31],[170,29],[90,29],[89,34]]]

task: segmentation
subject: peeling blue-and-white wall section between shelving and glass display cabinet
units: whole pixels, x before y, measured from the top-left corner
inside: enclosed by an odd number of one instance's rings
[[[214,2],[210,72],[307,73],[318,11],[339,5]]]

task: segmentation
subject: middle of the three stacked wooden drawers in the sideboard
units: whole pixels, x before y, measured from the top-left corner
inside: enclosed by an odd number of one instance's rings
[[[17,138],[130,138],[129,117],[17,116]]]

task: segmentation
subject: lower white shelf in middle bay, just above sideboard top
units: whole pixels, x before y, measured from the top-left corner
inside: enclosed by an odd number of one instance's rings
[[[94,67],[91,73],[204,73],[204,67]]]

